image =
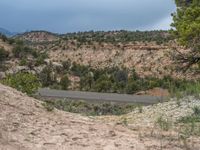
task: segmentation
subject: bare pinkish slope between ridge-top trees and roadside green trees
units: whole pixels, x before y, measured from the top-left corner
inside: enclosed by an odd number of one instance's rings
[[[118,45],[110,43],[91,43],[77,47],[77,43],[71,45],[69,41],[61,40],[57,44],[47,44],[46,47],[37,45],[40,50],[49,50],[49,58],[52,62],[71,60],[81,65],[90,65],[93,68],[127,67],[134,68],[138,75],[144,76],[172,76],[175,78],[198,78],[188,70],[180,73],[173,57],[177,53],[175,49],[186,52],[175,43],[158,45],[155,42],[137,42]]]

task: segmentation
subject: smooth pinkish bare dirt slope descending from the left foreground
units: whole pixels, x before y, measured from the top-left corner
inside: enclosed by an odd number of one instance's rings
[[[3,85],[0,93],[0,149],[143,148],[123,127],[58,110],[47,112],[39,101]]]

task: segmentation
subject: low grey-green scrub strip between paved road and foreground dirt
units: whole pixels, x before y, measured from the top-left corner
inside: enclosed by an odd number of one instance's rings
[[[117,103],[91,103],[87,101],[77,100],[45,100],[45,108],[51,109],[55,107],[57,109],[80,113],[89,116],[100,115],[123,115],[132,112],[138,107],[135,104],[117,104]]]

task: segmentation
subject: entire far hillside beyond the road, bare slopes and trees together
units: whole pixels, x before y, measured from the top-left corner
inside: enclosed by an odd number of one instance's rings
[[[149,93],[158,87],[185,91],[185,80],[200,76],[194,68],[180,71],[184,64],[176,63],[176,50],[189,50],[166,31],[65,35],[33,31],[2,37],[0,46],[1,79],[26,72],[36,75],[42,87],[53,89],[126,94]]]

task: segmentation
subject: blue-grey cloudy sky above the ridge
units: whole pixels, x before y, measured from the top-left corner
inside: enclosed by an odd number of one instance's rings
[[[0,27],[56,33],[167,30],[174,0],[0,0]]]

